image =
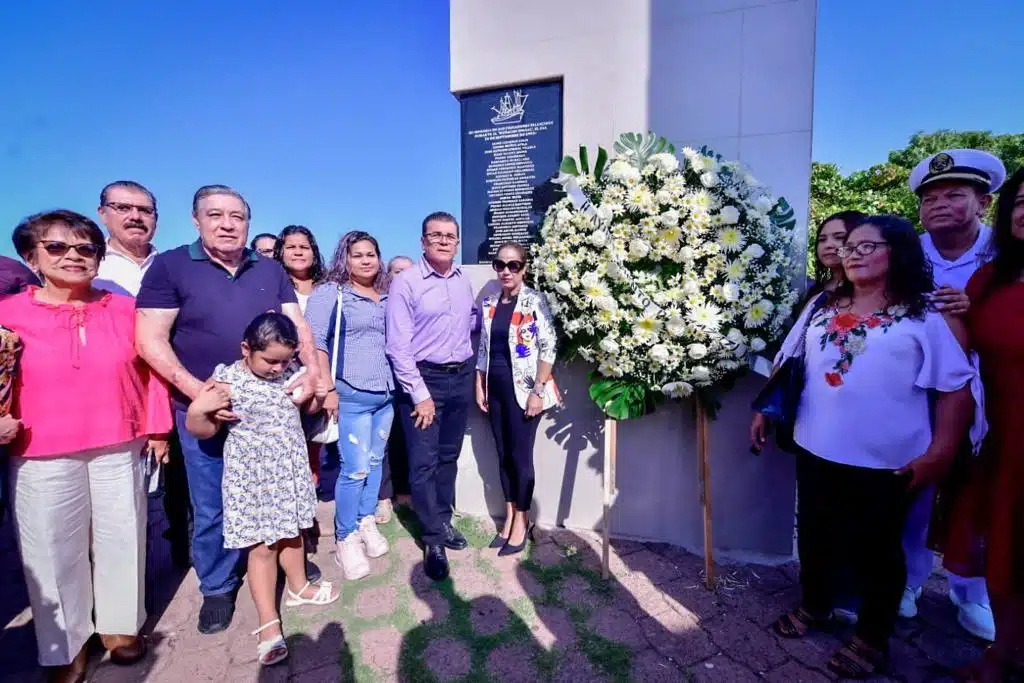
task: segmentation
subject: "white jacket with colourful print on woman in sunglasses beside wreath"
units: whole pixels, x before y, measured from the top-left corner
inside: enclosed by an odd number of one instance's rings
[[[490,362],[490,324],[495,318],[501,294],[486,296],[480,305],[483,326],[480,331],[480,348],[476,355],[476,369],[487,375]],[[519,407],[526,410],[526,399],[537,379],[537,369],[543,360],[553,364],[556,356],[556,337],[551,310],[544,295],[523,287],[516,298],[515,310],[509,329],[509,350],[512,355],[512,381]],[[558,387],[554,378],[544,387],[544,410],[559,403]]]

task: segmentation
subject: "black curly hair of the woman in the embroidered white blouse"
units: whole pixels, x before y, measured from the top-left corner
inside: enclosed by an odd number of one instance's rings
[[[879,228],[882,239],[889,245],[889,272],[886,275],[886,298],[890,306],[906,306],[907,312],[920,317],[928,308],[928,295],[935,289],[932,280],[932,262],[921,248],[921,237],[913,223],[899,216],[867,216],[854,226]],[[847,241],[853,230],[847,236]],[[853,298],[853,285],[849,281],[837,288],[831,297],[835,303]]]

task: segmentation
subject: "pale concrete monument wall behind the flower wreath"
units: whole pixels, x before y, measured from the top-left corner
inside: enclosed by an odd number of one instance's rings
[[[452,0],[454,93],[560,77],[564,146],[610,147],[648,129],[677,144],[739,159],[794,205],[806,234],[815,0]],[[488,286],[486,266],[467,266]],[[490,285],[493,286],[493,284]],[[598,528],[603,420],[587,396],[588,367],[556,368],[565,407],[543,418],[535,518]],[[712,428],[715,547],[738,558],[787,557],[792,459],[750,454],[749,377]],[[702,523],[692,405],[672,403],[618,427],[616,536],[699,549]],[[494,441],[474,415],[459,472],[459,508],[503,509]]]

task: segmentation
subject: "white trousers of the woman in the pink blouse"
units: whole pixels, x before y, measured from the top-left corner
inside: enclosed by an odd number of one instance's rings
[[[10,459],[14,527],[44,667],[71,664],[93,633],[135,635],[145,622],[144,442]]]

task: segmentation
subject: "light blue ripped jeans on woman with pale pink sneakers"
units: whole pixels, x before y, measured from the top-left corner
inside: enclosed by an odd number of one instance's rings
[[[340,467],[334,486],[334,532],[341,541],[377,509],[394,392],[361,391],[341,380],[337,388]]]

